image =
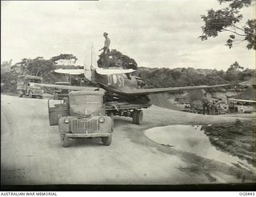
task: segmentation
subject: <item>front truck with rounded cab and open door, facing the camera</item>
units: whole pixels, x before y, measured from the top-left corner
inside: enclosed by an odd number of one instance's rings
[[[104,89],[86,88],[71,91],[67,102],[48,100],[50,126],[58,125],[62,147],[77,138],[101,138],[102,144],[111,144],[114,122],[106,115],[104,94]]]

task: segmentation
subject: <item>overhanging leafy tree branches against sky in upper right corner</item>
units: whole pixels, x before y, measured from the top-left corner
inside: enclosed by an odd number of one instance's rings
[[[256,19],[248,19],[243,26],[241,9],[251,6],[255,0],[218,0],[220,4],[229,3],[221,10],[210,9],[206,15],[201,15],[203,22],[202,41],[209,37],[217,37],[218,33],[230,32],[226,45],[232,48],[237,41],[247,41],[247,49],[256,49]]]

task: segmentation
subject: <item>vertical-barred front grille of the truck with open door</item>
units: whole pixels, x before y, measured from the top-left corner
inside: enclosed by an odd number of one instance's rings
[[[73,133],[95,133],[98,131],[98,120],[74,119],[71,120],[71,132]]]

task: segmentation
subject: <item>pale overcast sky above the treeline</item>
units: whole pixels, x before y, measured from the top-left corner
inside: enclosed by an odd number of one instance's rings
[[[109,33],[110,49],[134,58],[139,66],[224,69],[234,61],[255,67],[255,51],[242,42],[234,49],[227,35],[201,41],[201,14],[220,8],[217,0],[14,2],[1,1],[1,61],[50,58],[60,53],[90,65]],[[253,18],[252,7],[243,10]]]

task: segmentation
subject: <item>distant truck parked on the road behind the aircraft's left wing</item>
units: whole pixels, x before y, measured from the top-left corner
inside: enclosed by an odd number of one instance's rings
[[[40,97],[44,93],[41,87],[30,85],[30,82],[42,84],[42,77],[32,75],[18,76],[17,91],[18,97]]]

